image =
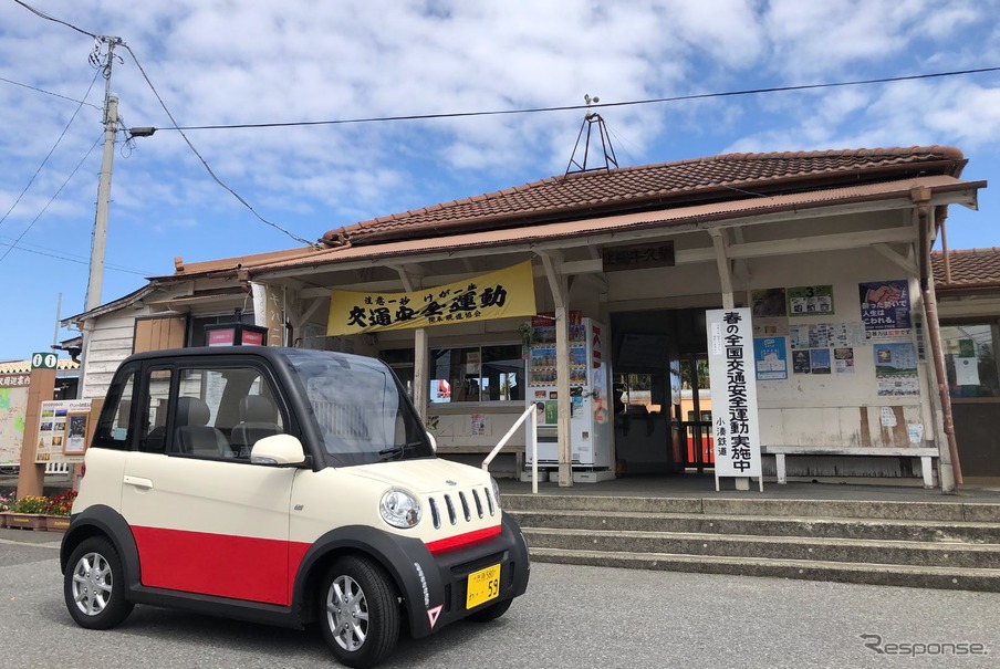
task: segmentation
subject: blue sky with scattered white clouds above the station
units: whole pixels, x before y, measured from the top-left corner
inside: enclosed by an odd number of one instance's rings
[[[1000,0],[0,0],[0,360],[85,311],[118,38],[102,302],[215,260],[566,171],[601,104],[1000,67]],[[66,25],[69,24],[69,25]],[[103,61],[106,44],[96,59]],[[160,104],[160,101],[163,104]],[[164,106],[170,115],[167,114]],[[190,129],[573,107],[524,114]],[[622,167],[957,146],[1000,245],[1000,71],[597,108]],[[199,158],[200,155],[200,158]],[[219,186],[202,164],[261,218]]]

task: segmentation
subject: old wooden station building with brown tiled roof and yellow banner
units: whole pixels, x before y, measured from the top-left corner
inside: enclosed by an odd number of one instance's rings
[[[996,430],[970,427],[997,414],[1000,272],[991,286],[955,252],[941,281],[931,253],[949,207],[976,209],[986,187],[965,168],[928,146],[577,171],[306,248],[178,258],[65,323],[84,333],[84,397],[126,355],[204,345],[229,322],[265,327],[269,345],[382,357],[439,453],[476,463],[542,399],[556,449],[543,470],[570,485],[711,469],[706,314],[747,307],[765,475],[949,492],[963,457],[969,477],[1000,461]],[[601,328],[596,379],[576,374],[593,363],[592,331],[584,363],[574,346],[585,324]],[[525,442],[515,430],[494,470],[520,475]]]

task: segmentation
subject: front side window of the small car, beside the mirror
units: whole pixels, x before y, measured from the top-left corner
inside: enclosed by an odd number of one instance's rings
[[[285,431],[275,398],[265,375],[253,367],[178,370],[168,452],[249,461],[259,439]]]

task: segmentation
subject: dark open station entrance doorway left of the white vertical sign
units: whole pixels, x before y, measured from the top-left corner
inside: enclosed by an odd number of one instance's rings
[[[617,313],[611,322],[617,474],[711,470],[705,310]]]

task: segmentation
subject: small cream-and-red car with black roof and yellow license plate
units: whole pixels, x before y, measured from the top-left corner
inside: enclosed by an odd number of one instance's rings
[[[186,348],[111,384],[61,550],[81,626],[135,604],[303,627],[369,667],[405,627],[491,620],[528,546],[488,473],[435,457],[393,372],[340,353]]]

